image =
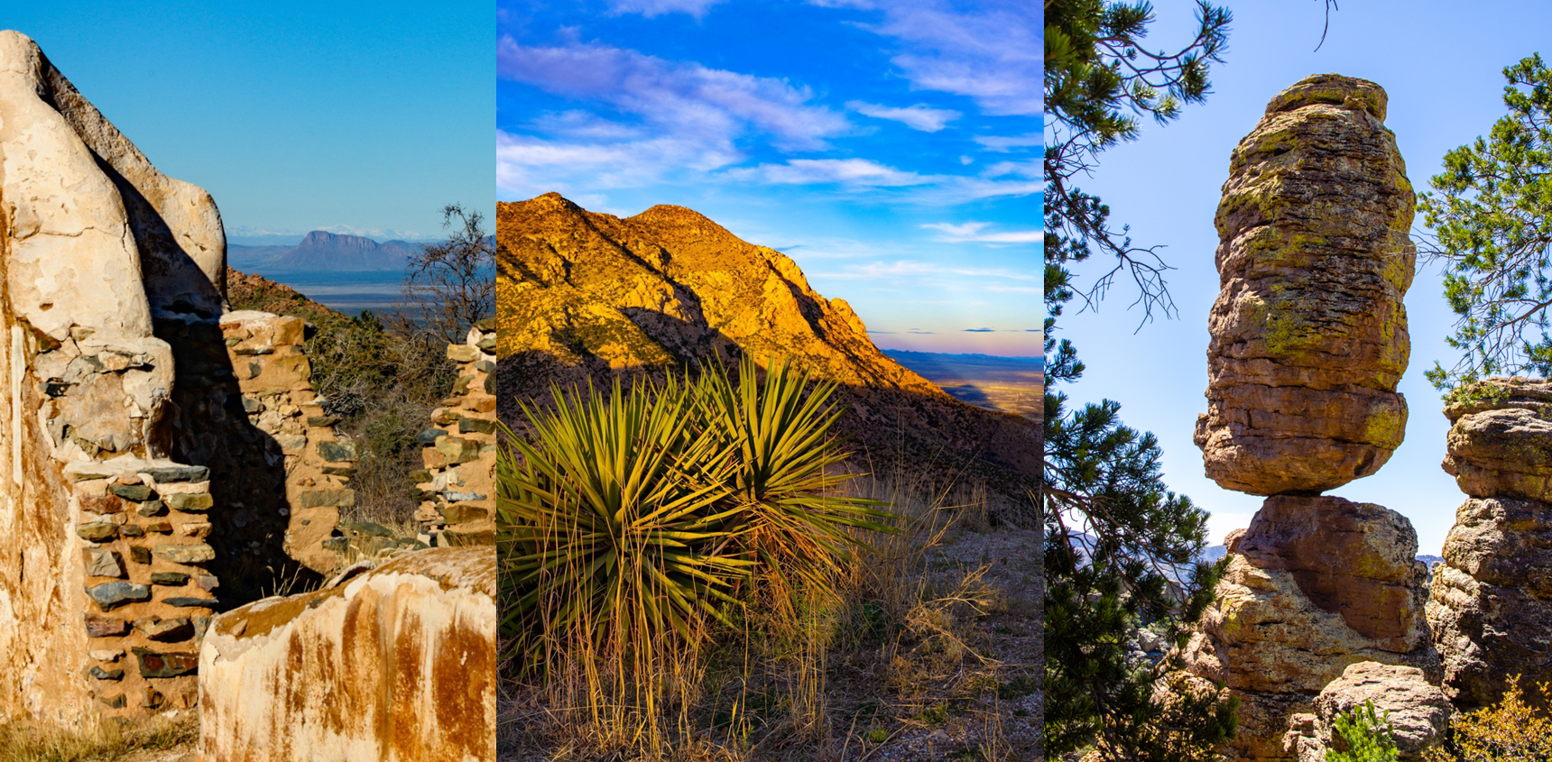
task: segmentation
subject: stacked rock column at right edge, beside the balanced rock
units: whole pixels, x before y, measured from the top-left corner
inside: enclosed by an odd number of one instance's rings
[[[1552,680],[1552,380],[1487,379],[1445,408],[1443,467],[1468,495],[1434,566],[1428,622],[1456,705]],[[1530,691],[1527,700],[1538,700]]]

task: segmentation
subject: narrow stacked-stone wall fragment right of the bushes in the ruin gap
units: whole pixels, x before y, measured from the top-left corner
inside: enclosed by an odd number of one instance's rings
[[[495,542],[495,323],[481,321],[462,345],[450,345],[447,357],[458,363],[453,393],[431,414],[431,428],[421,433],[425,470],[419,489],[424,501],[416,518],[427,545]]]

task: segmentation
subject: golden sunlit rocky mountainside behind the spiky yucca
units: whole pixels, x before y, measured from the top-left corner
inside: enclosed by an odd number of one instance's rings
[[[497,244],[503,405],[551,382],[788,354],[844,385],[841,425],[869,470],[968,473],[1007,497],[1038,476],[1032,421],[950,397],[880,352],[850,306],[815,292],[785,255],[695,211],[621,219],[551,192],[500,203]]]

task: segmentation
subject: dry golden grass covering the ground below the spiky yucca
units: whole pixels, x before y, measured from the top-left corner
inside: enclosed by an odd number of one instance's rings
[[[504,681],[498,739],[515,756],[501,759],[1037,759],[1004,737],[1009,722],[1034,720],[1017,706],[1034,692],[1035,663],[999,658],[990,624],[1018,619],[1012,608],[1027,602],[990,579],[996,559],[936,552],[984,500],[922,495],[906,480],[849,489],[886,501],[899,531],[858,531],[869,551],[846,563],[833,594],[799,597],[795,618],[750,608],[695,647],[660,639],[636,664],[573,641],[573,669]],[[644,694],[599,689],[630,680],[653,686],[650,709]]]

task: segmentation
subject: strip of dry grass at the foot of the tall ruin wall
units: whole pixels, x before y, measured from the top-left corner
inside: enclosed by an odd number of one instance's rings
[[[0,762],[115,762],[149,759],[155,751],[189,746],[199,740],[199,719],[160,717],[98,728],[42,728],[14,722],[0,725]]]

